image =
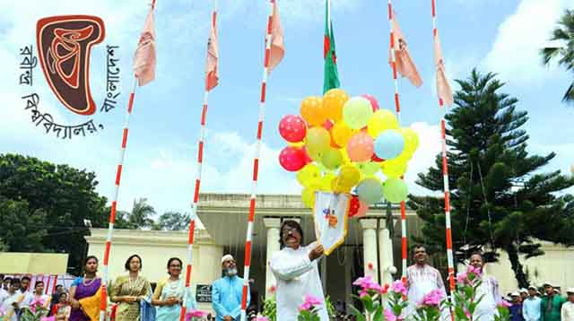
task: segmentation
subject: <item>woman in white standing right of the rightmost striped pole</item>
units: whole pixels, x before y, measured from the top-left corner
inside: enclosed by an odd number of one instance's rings
[[[484,273],[484,258],[480,253],[474,253],[470,256],[470,265],[481,271],[481,286],[476,291],[476,298],[483,296],[483,299],[478,303],[474,310],[474,319],[479,317],[482,321],[493,321],[494,314],[496,313],[496,306],[502,300],[499,291],[499,282],[496,281],[494,276],[486,275]]]

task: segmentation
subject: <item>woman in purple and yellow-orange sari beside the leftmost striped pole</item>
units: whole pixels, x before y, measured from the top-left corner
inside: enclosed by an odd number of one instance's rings
[[[76,278],[70,288],[70,321],[91,321],[99,308],[101,279],[96,276],[98,258],[86,257],[83,270],[83,277]]]

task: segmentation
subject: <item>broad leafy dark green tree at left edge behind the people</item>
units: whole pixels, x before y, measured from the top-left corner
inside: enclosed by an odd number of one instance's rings
[[[25,202],[27,211],[18,205],[19,213],[45,213],[45,219],[37,219],[39,223],[33,225],[38,230],[43,226],[46,231],[42,238],[44,250],[68,253],[68,265],[75,267],[76,272],[86,247],[83,237],[89,233],[84,220],[90,220],[93,227],[104,227],[108,221],[106,198],[96,192],[97,186],[95,174],[85,169],[22,155],[0,154],[0,197]],[[31,224],[25,216],[20,218],[22,224]],[[4,242],[12,251],[17,250],[13,248],[13,239],[5,238]]]

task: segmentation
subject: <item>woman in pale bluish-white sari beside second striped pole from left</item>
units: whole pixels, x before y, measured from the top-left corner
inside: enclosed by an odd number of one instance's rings
[[[180,277],[181,267],[181,260],[178,257],[171,257],[168,260],[170,277],[159,282],[153,292],[152,304],[158,307],[156,321],[178,320],[182,305],[186,308],[196,308],[195,299],[185,294],[186,287]]]

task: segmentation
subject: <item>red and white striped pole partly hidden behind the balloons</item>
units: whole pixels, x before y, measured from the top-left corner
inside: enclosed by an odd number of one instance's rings
[[[393,4],[388,0],[388,25],[390,28],[390,48],[391,48],[391,66],[393,68],[393,82],[395,83],[395,110],[396,117],[399,124],[401,122],[401,100],[398,95],[398,75],[396,71],[396,39],[393,28]],[[407,242],[406,242],[406,206],[401,202],[401,255],[402,255],[402,275],[401,279],[406,282],[406,256],[407,256]]]

